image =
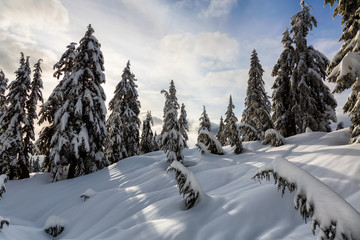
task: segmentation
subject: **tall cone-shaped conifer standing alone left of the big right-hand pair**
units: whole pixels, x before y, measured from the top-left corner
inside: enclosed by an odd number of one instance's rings
[[[264,88],[263,73],[264,70],[260,64],[257,52],[254,49],[250,59],[245,109],[241,122],[253,126],[258,131],[258,134],[254,135],[247,129],[243,129],[245,141],[263,139],[265,131],[272,128],[270,117],[271,105]]]

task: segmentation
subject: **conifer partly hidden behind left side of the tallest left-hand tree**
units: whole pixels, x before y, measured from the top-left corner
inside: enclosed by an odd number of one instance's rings
[[[67,50],[62,54],[60,60],[54,65],[53,76],[59,79],[62,75],[63,78],[56,85],[52,93],[50,94],[48,100],[41,105],[39,112],[39,125],[47,121],[47,126],[43,127],[40,131],[39,138],[36,141],[36,145],[41,151],[41,154],[45,155],[45,159],[42,164],[42,168],[44,172],[51,172],[51,161],[50,161],[50,151],[52,148],[51,139],[56,132],[56,125],[54,123],[55,113],[56,111],[63,106],[64,104],[64,93],[65,89],[63,89],[64,81],[69,78],[72,69],[75,65],[76,58],[76,43],[70,43],[67,46]],[[70,139],[68,139],[70,140]],[[70,145],[66,145],[70,147]],[[65,147],[65,146],[63,146]],[[65,150],[64,150],[65,151]],[[70,149],[66,150],[69,152]],[[64,164],[66,164],[66,160],[64,160]]]

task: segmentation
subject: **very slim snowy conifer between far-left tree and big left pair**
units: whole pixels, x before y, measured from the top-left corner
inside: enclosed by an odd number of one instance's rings
[[[24,150],[26,150],[27,153],[31,155],[33,155],[33,141],[35,140],[34,119],[38,119],[38,115],[36,113],[37,103],[38,101],[44,101],[41,92],[41,89],[43,88],[43,81],[41,79],[41,62],[42,59],[39,59],[38,62],[34,65],[34,77],[31,82],[29,99],[26,102],[29,125],[24,129],[26,132],[24,138]]]

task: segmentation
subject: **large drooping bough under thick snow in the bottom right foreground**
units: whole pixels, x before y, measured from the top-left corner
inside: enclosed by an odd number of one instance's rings
[[[270,181],[272,174],[278,190],[296,190],[295,209],[305,223],[312,219],[312,232],[319,227],[318,239],[360,239],[360,214],[331,188],[285,159],[277,158],[259,168],[253,177]]]

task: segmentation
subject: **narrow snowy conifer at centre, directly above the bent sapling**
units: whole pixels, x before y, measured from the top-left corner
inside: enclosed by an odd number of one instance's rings
[[[173,81],[171,82],[173,85]],[[175,87],[173,90],[175,90]],[[165,95],[166,99],[164,106],[164,124],[161,132],[162,149],[166,153],[167,162],[169,164],[171,164],[173,161],[179,161],[183,163],[184,155],[182,150],[185,148],[185,145],[180,133],[180,125],[177,120],[177,108],[176,102],[174,101],[175,95],[171,95],[165,90],[162,90],[161,93]]]

